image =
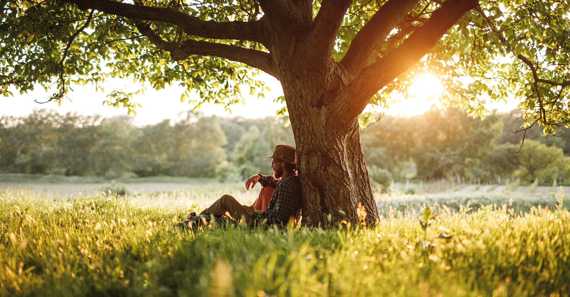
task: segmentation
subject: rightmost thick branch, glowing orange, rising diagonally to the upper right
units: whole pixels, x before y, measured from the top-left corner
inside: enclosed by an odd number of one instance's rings
[[[340,102],[337,108],[337,123],[348,127],[351,119],[358,116],[378,90],[408,70],[437,44],[443,34],[478,5],[477,0],[447,0],[435,10],[424,25],[420,26],[396,50],[389,52],[373,64],[365,67],[352,82],[343,89],[333,90],[335,97],[351,98]],[[340,120],[340,121],[339,121]]]

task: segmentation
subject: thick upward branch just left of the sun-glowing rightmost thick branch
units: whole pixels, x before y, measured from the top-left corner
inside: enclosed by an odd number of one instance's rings
[[[400,23],[418,0],[389,0],[356,34],[340,64],[355,75],[370,65],[380,52],[386,36]]]

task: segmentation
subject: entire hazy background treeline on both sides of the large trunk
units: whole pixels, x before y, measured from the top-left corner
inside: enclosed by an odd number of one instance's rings
[[[570,181],[570,135],[543,136],[519,111],[481,120],[461,109],[431,109],[412,117],[384,116],[361,131],[374,182],[406,179],[499,182]],[[270,173],[266,156],[277,144],[295,145],[287,118],[203,116],[135,127],[133,117],[60,115],[36,110],[0,117],[0,172],[116,178],[160,174],[239,180]],[[566,131],[567,129],[564,129]]]

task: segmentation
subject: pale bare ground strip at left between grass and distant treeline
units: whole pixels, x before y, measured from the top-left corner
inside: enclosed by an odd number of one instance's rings
[[[83,196],[87,194],[95,193],[95,189],[102,186],[102,184],[17,184],[12,182],[0,182],[0,188],[15,188],[22,189],[28,188],[34,190],[35,193],[41,192],[51,192],[59,193],[62,196],[76,196],[81,193]],[[196,186],[194,184],[177,184],[177,183],[166,183],[166,182],[141,182],[133,184],[125,184],[128,192],[130,193],[140,193],[140,192],[150,192],[150,191],[165,191],[165,190],[176,190],[185,189]]]

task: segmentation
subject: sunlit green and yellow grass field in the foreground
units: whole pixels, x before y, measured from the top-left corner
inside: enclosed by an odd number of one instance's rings
[[[0,295],[570,294],[570,213],[556,206],[434,208],[427,232],[409,209],[374,227],[173,227],[212,190],[53,200],[0,189]]]

